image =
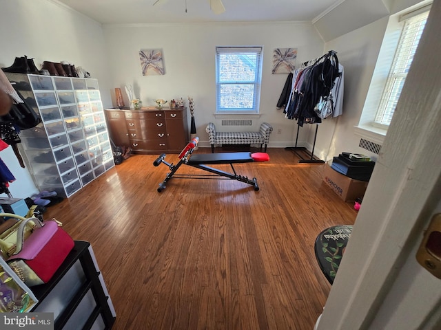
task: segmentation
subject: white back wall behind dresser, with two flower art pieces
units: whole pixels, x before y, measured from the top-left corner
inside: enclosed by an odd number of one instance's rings
[[[154,98],[170,100],[187,96],[194,99],[196,132],[201,145],[208,146],[205,126],[214,122],[216,110],[215,54],[219,45],[262,45],[263,77],[259,120],[274,127],[269,146],[292,146],[296,137],[294,120],[287,120],[276,104],[287,74],[271,74],[272,52],[277,47],[297,47],[298,63],[321,56],[323,41],[309,23],[200,23],[103,25],[112,87],[132,85],[143,106],[153,106]],[[165,65],[163,76],[143,76],[139,50],[162,49]],[[114,94],[114,91],[112,91]],[[114,96],[113,96],[114,97]],[[114,105],[116,103],[114,102]],[[243,129],[243,128],[242,128]],[[281,134],[277,134],[282,129]],[[307,140],[307,129],[299,139]]]

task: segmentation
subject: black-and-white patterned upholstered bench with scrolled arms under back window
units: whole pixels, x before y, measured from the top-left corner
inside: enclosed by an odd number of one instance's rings
[[[216,132],[216,126],[209,122],[205,131],[212,145],[212,153],[214,153],[214,144],[260,144],[260,149],[265,144],[264,151],[266,152],[269,134],[273,131],[273,127],[263,122],[258,132]]]

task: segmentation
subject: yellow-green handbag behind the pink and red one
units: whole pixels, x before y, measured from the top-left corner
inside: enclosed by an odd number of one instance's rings
[[[19,230],[21,221],[26,218],[13,213],[0,213],[0,217],[9,218],[0,225],[0,254],[3,259],[8,259],[15,252],[17,230]],[[24,228],[23,239],[30,236],[34,227],[34,221],[29,221]]]

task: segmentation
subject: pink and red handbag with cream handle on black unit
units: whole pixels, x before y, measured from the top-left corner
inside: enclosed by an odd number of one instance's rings
[[[25,226],[29,221],[35,223],[35,228],[28,239],[24,240]],[[21,221],[16,245],[7,263],[25,285],[32,287],[50,281],[74,248],[74,241],[59,226],[58,221],[41,222],[32,217]]]

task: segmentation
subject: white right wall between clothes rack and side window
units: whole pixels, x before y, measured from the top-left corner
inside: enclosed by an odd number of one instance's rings
[[[387,21],[384,17],[325,45],[325,49],[338,52],[338,60],[345,67],[345,97],[343,114],[326,118],[319,126],[315,153],[320,159],[330,160],[342,151],[376,157],[358,146],[360,136],[353,133],[353,126],[358,124],[365,105]]]

